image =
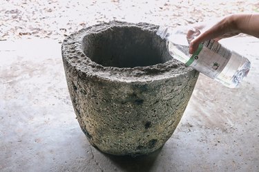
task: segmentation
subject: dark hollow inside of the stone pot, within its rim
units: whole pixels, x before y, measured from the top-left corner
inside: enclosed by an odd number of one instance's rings
[[[171,60],[155,32],[137,27],[113,27],[88,34],[83,48],[86,56],[105,67],[143,67]]]

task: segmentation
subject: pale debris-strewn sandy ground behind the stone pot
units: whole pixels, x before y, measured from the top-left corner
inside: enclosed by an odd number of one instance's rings
[[[0,1],[0,40],[64,37],[103,21],[186,25],[237,12],[259,12],[258,1]]]

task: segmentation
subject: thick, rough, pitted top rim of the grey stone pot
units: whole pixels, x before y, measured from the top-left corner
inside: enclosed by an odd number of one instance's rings
[[[61,45],[64,63],[79,71],[79,74],[106,80],[121,80],[124,82],[161,80],[163,78],[175,78],[188,72],[195,72],[191,67],[172,59],[165,63],[157,63],[143,67],[105,67],[95,63],[84,54],[83,41],[90,34],[97,34],[113,27],[137,27],[148,32],[156,32],[158,26],[149,23],[127,23],[123,21],[111,21],[99,23],[70,34]]]

